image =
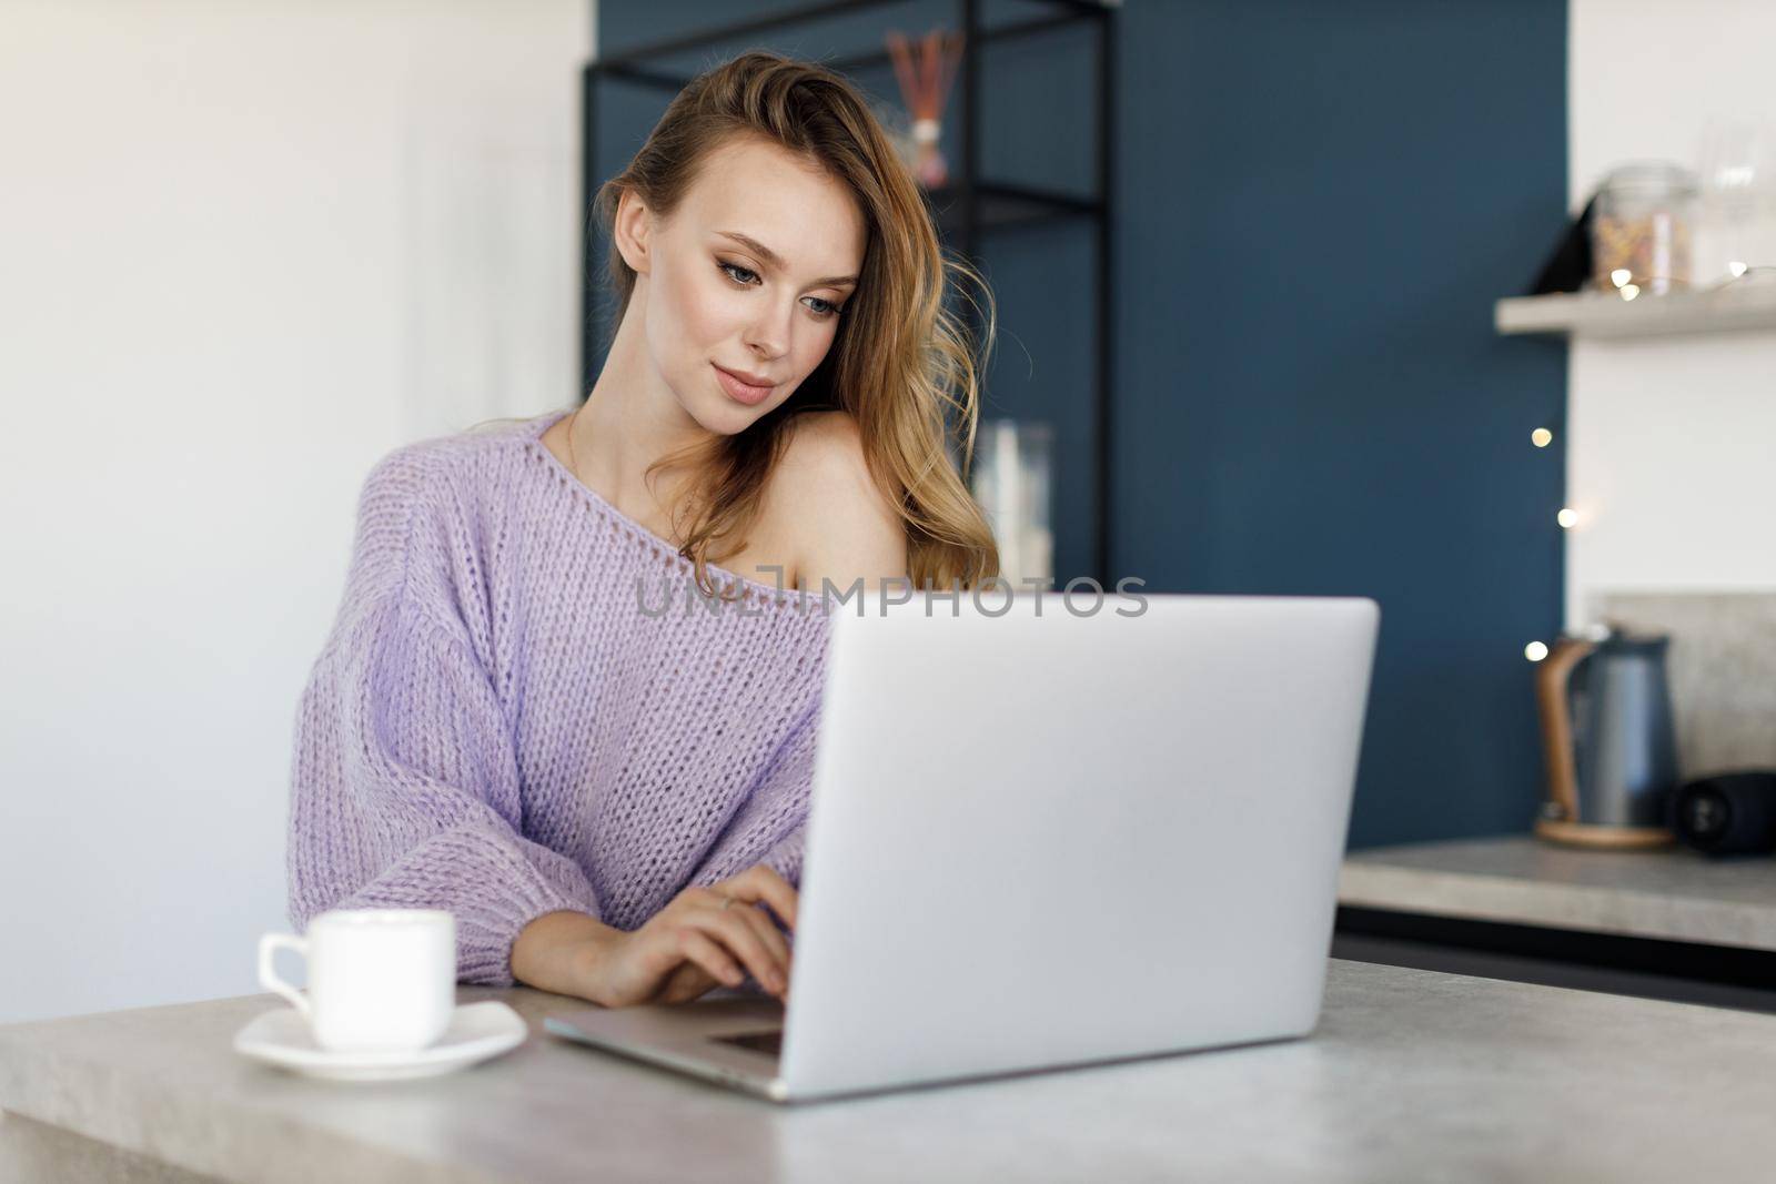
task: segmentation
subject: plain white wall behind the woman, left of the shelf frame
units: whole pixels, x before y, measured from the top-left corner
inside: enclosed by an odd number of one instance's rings
[[[579,382],[593,5],[0,27],[0,1022],[256,992],[359,481]]]

